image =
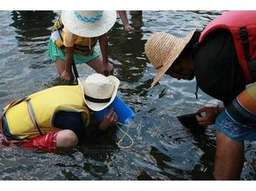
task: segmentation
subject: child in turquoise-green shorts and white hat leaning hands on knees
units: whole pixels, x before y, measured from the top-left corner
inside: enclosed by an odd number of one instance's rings
[[[107,56],[106,32],[116,22],[116,11],[65,10],[53,26],[48,53],[60,78],[71,81],[71,64],[87,63],[99,74],[109,76],[113,66]],[[94,49],[99,42],[102,56]]]

